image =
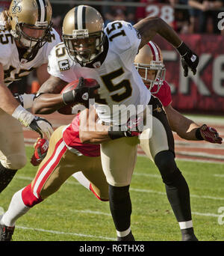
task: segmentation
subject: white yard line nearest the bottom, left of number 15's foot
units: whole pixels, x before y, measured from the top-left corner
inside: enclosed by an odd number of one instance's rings
[[[43,228],[28,228],[28,227],[22,227],[22,226],[16,226],[16,228],[21,228],[25,230],[31,230],[31,231],[40,231],[40,232],[46,232],[46,233],[52,233],[52,234],[63,234],[63,235],[68,235],[68,236],[76,236],[76,237],[93,237],[93,238],[100,238],[104,240],[113,240],[116,241],[116,239],[112,237],[101,237],[101,236],[93,236],[89,234],[80,234],[80,233],[66,233],[63,231],[51,231],[51,230],[46,230]]]

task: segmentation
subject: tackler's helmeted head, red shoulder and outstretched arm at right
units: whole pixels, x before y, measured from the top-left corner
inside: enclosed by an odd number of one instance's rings
[[[156,43],[149,41],[146,46],[143,46],[134,59],[134,65],[149,91],[161,100],[172,131],[177,132],[181,138],[186,140],[205,140],[222,144],[223,138],[220,138],[216,129],[208,127],[206,124],[200,127],[194,121],[184,117],[184,115],[172,108],[172,95],[169,84],[165,80],[166,68],[163,55]],[[146,151],[149,152],[149,147]],[[146,154],[150,155],[150,153]]]

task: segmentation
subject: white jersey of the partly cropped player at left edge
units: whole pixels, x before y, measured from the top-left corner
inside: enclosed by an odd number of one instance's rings
[[[4,83],[10,85],[13,81],[22,79],[37,67],[48,63],[49,52],[60,43],[57,31],[51,31],[51,42],[47,42],[39,49],[37,55],[31,61],[22,58],[19,60],[19,52],[14,37],[10,31],[0,31],[0,63],[4,69]]]

